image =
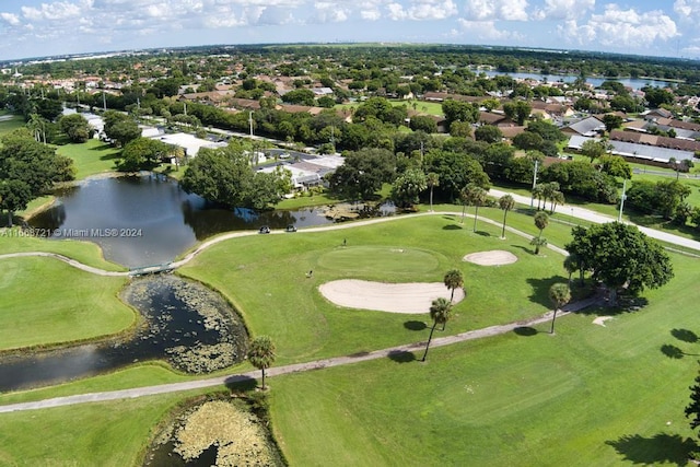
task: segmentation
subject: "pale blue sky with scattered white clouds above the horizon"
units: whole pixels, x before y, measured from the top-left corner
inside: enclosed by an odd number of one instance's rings
[[[0,60],[211,44],[470,44],[700,58],[700,0],[0,0]]]

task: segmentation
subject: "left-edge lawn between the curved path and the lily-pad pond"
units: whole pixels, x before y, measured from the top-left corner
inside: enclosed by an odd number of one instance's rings
[[[0,261],[0,350],[92,339],[136,323],[117,297],[125,278],[95,276],[54,258]]]

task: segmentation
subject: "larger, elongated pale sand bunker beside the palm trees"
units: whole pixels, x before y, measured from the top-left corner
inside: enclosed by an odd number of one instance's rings
[[[376,310],[389,313],[430,313],[433,300],[450,300],[451,291],[442,282],[384,283],[357,279],[326,282],[318,287],[330,302],[348,308]],[[464,290],[456,289],[454,302],[464,300]]]

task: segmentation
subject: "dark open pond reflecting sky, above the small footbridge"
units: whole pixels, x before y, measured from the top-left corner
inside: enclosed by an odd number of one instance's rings
[[[57,201],[28,224],[55,240],[98,244],[105,258],[138,268],[172,261],[211,235],[261,225],[284,229],[334,222],[324,209],[222,209],[158,175],[91,178],[56,192]]]

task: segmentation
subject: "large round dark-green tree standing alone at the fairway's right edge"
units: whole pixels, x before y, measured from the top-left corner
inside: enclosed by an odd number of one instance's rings
[[[670,258],[662,246],[633,225],[621,222],[575,226],[567,252],[579,258],[579,267],[614,291],[639,294],[656,289],[673,277]]]

